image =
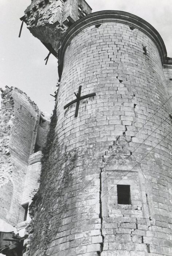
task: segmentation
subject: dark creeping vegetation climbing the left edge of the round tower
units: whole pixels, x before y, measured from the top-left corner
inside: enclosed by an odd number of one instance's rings
[[[66,153],[60,156],[58,136],[55,134],[57,123],[56,109],[51,117],[50,131],[46,146],[43,148],[40,188],[33,198],[30,207],[32,224],[31,249],[28,255],[49,255],[47,248],[60,232],[62,215],[67,211],[67,199],[64,199],[64,188],[69,185],[71,170],[75,166],[75,154]]]

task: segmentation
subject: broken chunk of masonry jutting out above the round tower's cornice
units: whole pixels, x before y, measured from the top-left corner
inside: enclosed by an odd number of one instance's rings
[[[60,40],[76,20],[91,13],[84,0],[34,0],[21,18],[55,57]]]

